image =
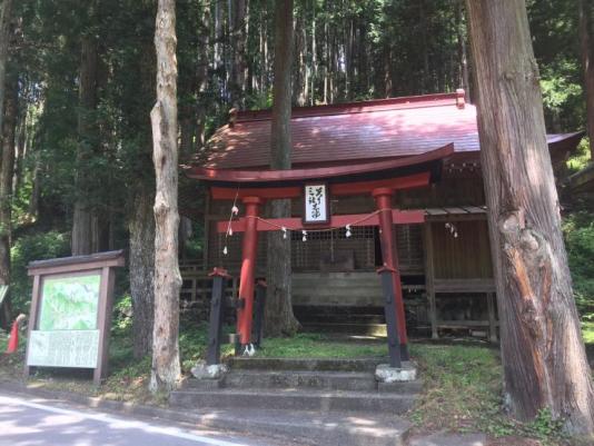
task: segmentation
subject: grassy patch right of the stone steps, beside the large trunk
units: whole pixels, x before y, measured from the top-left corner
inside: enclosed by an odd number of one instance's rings
[[[506,415],[497,349],[417,344],[412,355],[424,381],[424,392],[409,414],[419,430],[483,432],[492,437],[532,438],[550,446],[570,444],[562,422],[553,419],[547,409],[531,423]]]

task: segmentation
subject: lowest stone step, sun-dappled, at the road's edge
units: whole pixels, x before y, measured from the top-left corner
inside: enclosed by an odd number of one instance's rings
[[[180,412],[181,413],[181,412]],[[188,422],[212,429],[234,429],[280,437],[308,446],[405,446],[412,424],[393,415],[301,410],[195,409]]]

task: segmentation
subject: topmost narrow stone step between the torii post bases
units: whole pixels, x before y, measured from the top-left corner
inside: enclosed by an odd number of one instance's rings
[[[378,364],[388,363],[387,357],[370,358],[258,358],[232,357],[226,360],[232,370],[310,370],[310,371],[369,371]]]

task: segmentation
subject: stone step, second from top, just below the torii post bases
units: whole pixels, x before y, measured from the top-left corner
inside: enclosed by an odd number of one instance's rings
[[[224,387],[232,388],[313,388],[327,390],[377,390],[372,373],[237,370],[225,376]]]

